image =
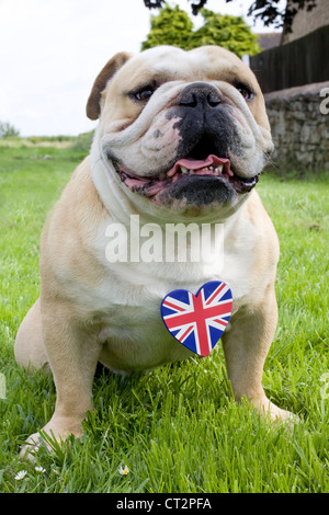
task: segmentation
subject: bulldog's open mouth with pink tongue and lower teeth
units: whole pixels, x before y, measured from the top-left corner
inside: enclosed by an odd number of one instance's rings
[[[230,184],[237,193],[242,194],[250,192],[256,186],[260,175],[241,178],[231,169],[229,159],[218,158],[214,154],[209,154],[204,160],[179,159],[169,171],[149,178],[134,174],[117,161],[113,161],[113,164],[121,180],[132,192],[147,197],[156,197],[178,181],[186,181],[186,179],[193,181],[200,176],[212,178],[215,181],[217,179],[218,182]]]

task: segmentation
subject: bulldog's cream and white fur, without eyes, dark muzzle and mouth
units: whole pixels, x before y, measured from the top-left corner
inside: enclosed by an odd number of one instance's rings
[[[277,320],[279,242],[256,191],[232,206],[204,210],[193,219],[224,224],[223,270],[216,262],[211,266],[203,262],[109,263],[105,258],[111,222],[128,227],[132,214],[138,214],[141,224],[160,226],[191,218],[179,207],[168,209],[131,192],[105,159],[106,149],[114,149],[136,173],[151,174],[158,163],[174,156],[178,145],[174,124],[163,113],[186,83],[201,80],[215,84],[230,103],[245,152],[243,162],[238,156],[231,159],[245,176],[252,176],[262,167],[264,149],[272,148],[257,81],[236,56],[216,47],[191,53],[161,47],[136,57],[121,55],[120,62],[115,59],[95,80],[89,108],[97,116],[100,99],[101,117],[91,154],[73,173],[46,222],[41,298],[22,322],[15,342],[18,363],[36,368],[47,364],[54,375],[56,410],[44,430],[53,431],[58,439],[70,433],[81,435],[81,420],[92,408],[99,360],[129,374],[189,357],[190,352],[161,323],[159,302],[174,288],[195,291],[216,278],[225,279],[234,293],[234,313],[222,340],[235,396],[249,398],[273,420],[285,419],[290,413],[271,403],[261,385]],[[123,92],[136,81],[147,81],[150,73],[161,76],[163,84],[140,111]],[[251,106],[231,87],[232,75],[252,82],[257,98]],[[101,94],[100,84],[106,84]],[[159,127],[167,135],[166,146],[156,151],[150,134]],[[22,455],[37,443],[38,434],[32,435]]]

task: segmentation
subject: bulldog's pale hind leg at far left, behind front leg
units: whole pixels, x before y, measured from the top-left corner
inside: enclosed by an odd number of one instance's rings
[[[50,370],[43,342],[39,299],[32,306],[20,325],[14,355],[16,363],[31,371],[41,367],[44,367],[46,373]]]

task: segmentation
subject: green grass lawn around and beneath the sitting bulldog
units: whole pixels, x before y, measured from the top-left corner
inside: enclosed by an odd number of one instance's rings
[[[329,492],[328,175],[265,175],[258,191],[281,240],[280,322],[263,385],[299,413],[293,431],[269,427],[229,396],[220,345],[206,359],[129,379],[99,374],[84,437],[37,465],[19,447],[50,417],[52,377],[16,366],[19,324],[38,296],[45,217],[82,153],[0,148],[0,492]],[[329,393],[329,388],[328,388]],[[127,465],[129,473],[117,469]],[[26,470],[22,480],[15,474]]]

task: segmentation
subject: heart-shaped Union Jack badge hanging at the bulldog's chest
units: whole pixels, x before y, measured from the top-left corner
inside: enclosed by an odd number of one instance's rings
[[[230,319],[232,295],[219,281],[203,285],[196,295],[175,289],[166,295],[161,317],[168,331],[190,351],[207,356]]]

